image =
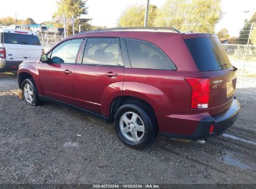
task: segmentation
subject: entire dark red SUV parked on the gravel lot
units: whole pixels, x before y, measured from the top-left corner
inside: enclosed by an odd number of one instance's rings
[[[107,29],[74,35],[19,67],[26,103],[41,100],[114,122],[141,149],[159,134],[218,136],[237,119],[236,70],[214,34]]]

